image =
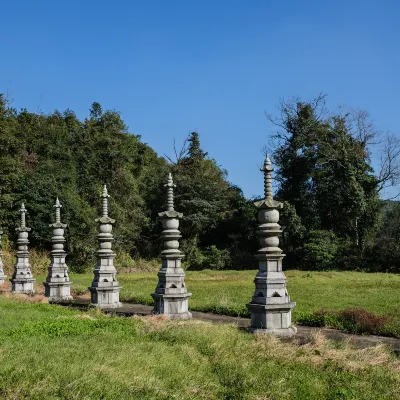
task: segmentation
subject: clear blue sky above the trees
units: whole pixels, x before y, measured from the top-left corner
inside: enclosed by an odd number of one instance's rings
[[[17,109],[115,109],[160,155],[199,132],[245,195],[282,97],[328,94],[400,134],[400,1],[3,1],[0,92]]]

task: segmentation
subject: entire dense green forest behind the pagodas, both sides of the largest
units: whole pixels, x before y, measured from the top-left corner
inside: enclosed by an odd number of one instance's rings
[[[383,169],[374,174],[375,139],[365,114],[332,115],[324,98],[282,103],[278,127],[266,135],[276,165],[276,198],[285,208],[282,248],[286,268],[400,272],[400,204],[379,193],[398,179],[397,143],[385,148]],[[0,225],[15,241],[25,202],[31,247],[49,250],[56,196],[68,224],[69,264],[92,266],[99,194],[108,185],[116,219],[115,250],[124,260],[154,258],[160,250],[157,213],[164,208],[167,173],[177,184],[183,212],[182,249],[187,268],[254,268],[257,249],[253,202],[228,181],[227,172],[192,132],[175,159],[156,154],[128,132],[116,111],[93,103],[90,118],[71,110],[45,115],[15,110],[0,96]],[[386,162],[386,164],[385,164]],[[257,173],[257,172],[255,172]],[[7,240],[8,238],[8,240]]]

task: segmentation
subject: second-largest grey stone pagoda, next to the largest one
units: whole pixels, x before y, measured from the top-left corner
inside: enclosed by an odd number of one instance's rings
[[[158,272],[158,285],[154,299],[154,314],[164,314],[168,318],[189,319],[192,314],[188,310],[188,300],[192,293],[188,293],[185,285],[185,273],[181,261],[184,257],[179,250],[179,219],[182,214],[174,209],[174,182],[172,175],[168,175],[167,211],[158,215],[161,217],[163,232],[161,240],[164,242],[164,250],[161,252],[161,269]]]

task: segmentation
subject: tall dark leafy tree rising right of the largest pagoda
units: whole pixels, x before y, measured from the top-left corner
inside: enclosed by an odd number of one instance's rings
[[[388,178],[373,174],[369,146],[376,133],[366,115],[329,115],[325,99],[292,99],[280,104],[277,118],[267,115],[279,128],[270,143],[277,196],[294,206],[305,230],[333,232],[362,252],[379,228],[378,194]]]

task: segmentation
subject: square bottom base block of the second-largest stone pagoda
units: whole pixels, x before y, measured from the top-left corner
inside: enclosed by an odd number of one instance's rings
[[[154,299],[153,314],[164,314],[170,319],[190,319],[188,303],[192,293],[160,294],[152,293]]]

